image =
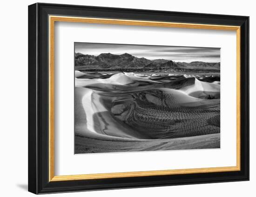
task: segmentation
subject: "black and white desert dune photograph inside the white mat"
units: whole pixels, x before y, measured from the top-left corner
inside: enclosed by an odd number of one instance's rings
[[[220,48],[74,43],[75,153],[220,148]]]

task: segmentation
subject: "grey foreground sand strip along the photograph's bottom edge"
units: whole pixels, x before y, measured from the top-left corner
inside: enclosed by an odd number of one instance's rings
[[[161,140],[101,140],[75,136],[75,153],[111,153],[219,148],[220,133]]]

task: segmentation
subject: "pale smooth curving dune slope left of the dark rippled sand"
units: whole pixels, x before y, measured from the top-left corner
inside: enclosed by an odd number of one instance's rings
[[[81,136],[105,136],[141,139],[137,133],[115,121],[104,102],[111,102],[111,98],[99,95],[97,92],[81,87],[75,87],[75,131]],[[111,124],[108,124],[110,122]]]

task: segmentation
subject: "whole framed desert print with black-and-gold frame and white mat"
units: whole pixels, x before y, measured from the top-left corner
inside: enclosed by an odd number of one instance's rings
[[[28,191],[249,180],[249,17],[28,6]]]

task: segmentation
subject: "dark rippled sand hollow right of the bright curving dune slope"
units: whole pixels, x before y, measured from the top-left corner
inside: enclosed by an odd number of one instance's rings
[[[152,139],[220,133],[219,99],[180,103],[182,96],[189,97],[162,89],[119,96],[113,102],[112,113]]]

